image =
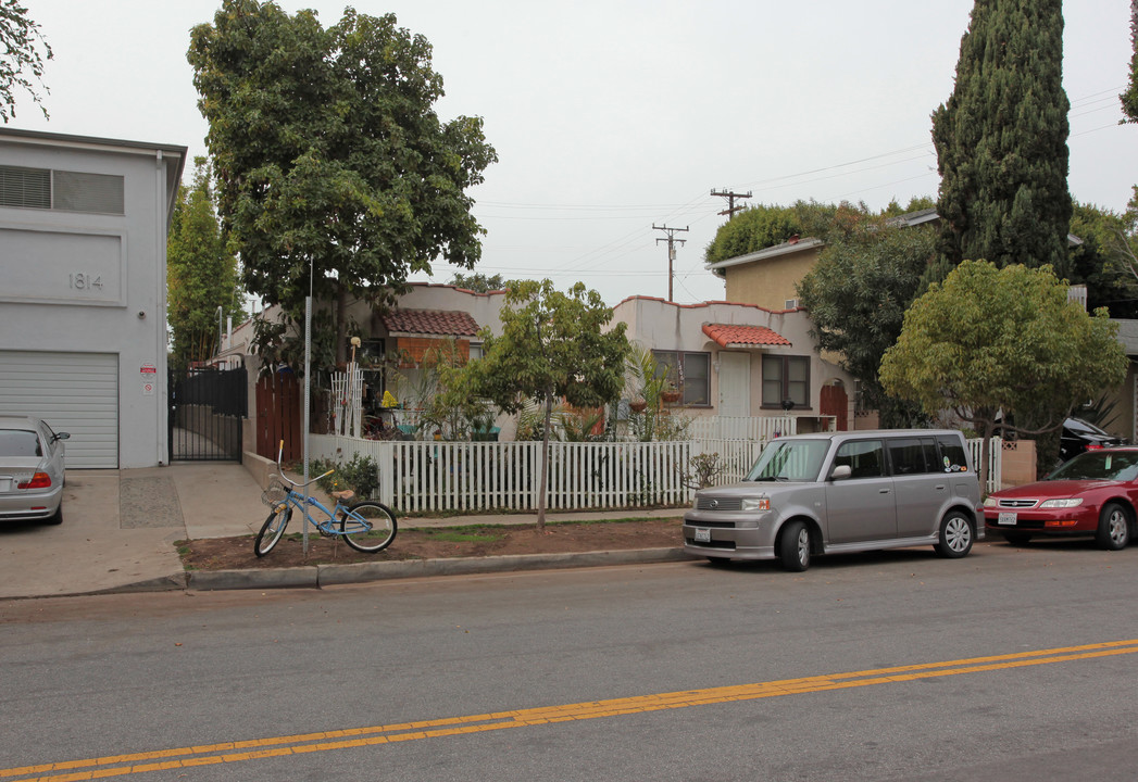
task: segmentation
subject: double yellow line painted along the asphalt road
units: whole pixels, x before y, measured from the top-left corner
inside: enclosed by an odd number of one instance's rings
[[[64,763],[47,763],[17,768],[0,768],[0,780],[5,780],[6,782],[99,780],[110,776],[124,776],[126,774],[192,768],[195,766],[208,766],[218,763],[239,763],[242,760],[257,760],[286,755],[323,752],[331,749],[371,747],[397,741],[417,741],[419,739],[500,731],[508,727],[546,725],[574,719],[616,717],[625,714],[643,714],[663,709],[687,708],[690,706],[726,704],[734,700],[756,700],[758,698],[777,698],[856,687],[892,684],[894,682],[909,682],[920,679],[957,676],[966,673],[1021,668],[1031,665],[1050,665],[1053,663],[1069,663],[1071,660],[1111,657],[1114,655],[1132,655],[1135,652],[1138,652],[1138,639],[1108,641],[1079,647],[1024,651],[1014,655],[973,657],[971,659],[926,663],[924,665],[901,665],[892,668],[856,671],[824,676],[807,676],[803,679],[785,679],[756,684],[714,687],[706,690],[663,692],[633,698],[615,698],[612,700],[520,709],[517,712],[496,712],[494,714],[409,722],[397,725],[353,727],[343,731],[282,735],[270,739],[251,739],[248,741],[231,741],[200,747],[183,747],[181,749],[163,749],[152,752],[112,755],[85,760],[67,760]]]

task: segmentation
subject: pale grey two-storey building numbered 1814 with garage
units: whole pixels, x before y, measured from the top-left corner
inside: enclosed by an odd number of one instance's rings
[[[166,231],[185,148],[0,127],[0,414],[68,467],[167,459]]]

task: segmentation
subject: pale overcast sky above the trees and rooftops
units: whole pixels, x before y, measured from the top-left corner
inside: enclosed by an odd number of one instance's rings
[[[18,95],[10,127],[184,144],[206,124],[189,30],[218,0],[24,0],[55,50],[51,118]],[[327,26],[347,2],[294,2]],[[721,299],[703,251],[745,203],[935,197],[930,115],[953,89],[971,0],[356,0],[434,45],[448,119],[485,118],[500,163],[473,190],[487,275],[580,280],[609,305],[667,297],[665,233],[690,228],[679,302]],[[1064,3],[1072,194],[1116,211],[1138,184],[1138,126],[1119,126],[1125,0]],[[192,166],[188,166],[188,169]],[[436,265],[435,282],[456,269]]]

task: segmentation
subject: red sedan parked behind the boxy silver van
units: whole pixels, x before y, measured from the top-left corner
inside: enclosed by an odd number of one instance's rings
[[[1042,481],[992,492],[984,500],[988,529],[1014,546],[1034,536],[1094,535],[1108,550],[1133,538],[1138,448],[1089,450]]]

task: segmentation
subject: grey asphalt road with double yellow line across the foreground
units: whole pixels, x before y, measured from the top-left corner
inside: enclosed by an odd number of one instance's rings
[[[1136,584],[995,544],[0,602],[0,780],[1132,780]]]

